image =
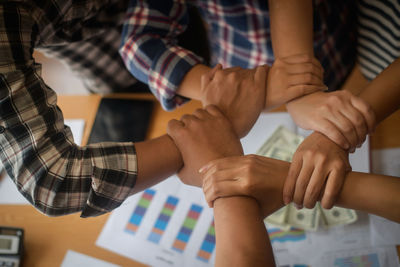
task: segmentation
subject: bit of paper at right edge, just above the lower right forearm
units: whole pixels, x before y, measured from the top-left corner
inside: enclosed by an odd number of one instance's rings
[[[372,150],[372,172],[400,177],[400,147]]]

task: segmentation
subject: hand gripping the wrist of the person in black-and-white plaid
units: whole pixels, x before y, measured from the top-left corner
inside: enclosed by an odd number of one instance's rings
[[[185,184],[201,187],[199,169],[210,160],[243,155],[231,123],[215,106],[198,109],[180,121],[171,120],[167,133],[182,154],[184,166],[178,176]]]

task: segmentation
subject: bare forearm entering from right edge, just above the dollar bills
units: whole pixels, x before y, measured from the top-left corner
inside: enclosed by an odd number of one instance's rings
[[[351,172],[336,205],[362,210],[400,223],[400,180],[397,177]]]

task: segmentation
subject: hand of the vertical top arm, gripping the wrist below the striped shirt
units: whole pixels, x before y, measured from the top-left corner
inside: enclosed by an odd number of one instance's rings
[[[298,126],[318,131],[351,151],[361,146],[375,127],[370,106],[347,91],[313,93],[287,103],[286,107]]]

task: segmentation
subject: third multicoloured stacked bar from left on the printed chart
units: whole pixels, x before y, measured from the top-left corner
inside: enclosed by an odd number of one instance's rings
[[[203,207],[192,204],[172,245],[173,250],[181,253],[185,250],[186,245],[189,242],[190,235],[192,234],[202,211]]]

